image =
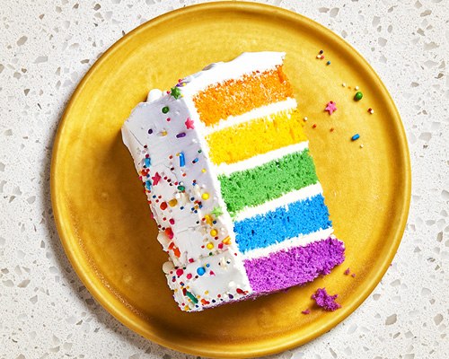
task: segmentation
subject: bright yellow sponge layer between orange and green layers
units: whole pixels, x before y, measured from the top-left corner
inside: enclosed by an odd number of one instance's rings
[[[303,124],[297,109],[292,109],[226,127],[206,137],[210,160],[235,163],[303,142],[307,139]]]

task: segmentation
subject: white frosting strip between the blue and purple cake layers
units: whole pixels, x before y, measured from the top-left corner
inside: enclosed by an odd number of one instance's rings
[[[294,238],[289,238],[286,241],[280,241],[274,243],[265,248],[258,248],[255,250],[247,251],[243,257],[245,259],[253,259],[260,257],[268,257],[271,253],[276,253],[280,250],[289,250],[294,247],[304,247],[305,245],[314,241],[324,240],[333,233],[333,228],[327,228],[325,230],[316,231],[307,235],[301,235]]]

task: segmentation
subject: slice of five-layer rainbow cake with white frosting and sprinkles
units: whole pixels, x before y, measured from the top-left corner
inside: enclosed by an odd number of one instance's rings
[[[303,285],[344,260],[284,57],[207,66],[151,91],[122,128],[183,311]]]

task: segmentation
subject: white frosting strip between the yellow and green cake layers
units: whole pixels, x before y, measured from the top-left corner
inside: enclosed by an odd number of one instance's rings
[[[229,176],[233,172],[245,171],[251,168],[260,166],[262,164],[268,163],[270,161],[282,158],[290,153],[303,152],[305,149],[309,148],[309,141],[303,141],[299,144],[290,144],[286,147],[278,148],[277,150],[270,151],[268,153],[257,154],[247,160],[235,163],[220,163],[216,165],[216,172],[220,174],[225,174]]]

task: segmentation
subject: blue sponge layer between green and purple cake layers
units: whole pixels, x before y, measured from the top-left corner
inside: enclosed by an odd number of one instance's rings
[[[255,215],[235,222],[233,230],[239,250],[245,253],[299,235],[324,230],[331,225],[328,207],[320,194],[288,206],[277,207],[264,215]]]

